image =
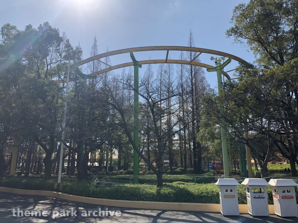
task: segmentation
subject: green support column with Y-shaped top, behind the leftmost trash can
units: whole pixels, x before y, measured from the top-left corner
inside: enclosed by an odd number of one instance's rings
[[[218,83],[218,92],[223,88],[223,83],[222,83],[222,78],[221,78],[221,71],[222,69],[228,65],[231,62],[232,59],[227,59],[226,62],[224,62],[222,65],[219,65],[215,68],[208,68],[207,71],[216,71],[217,73],[217,83]],[[221,113],[224,113],[224,108],[221,106],[220,108]],[[224,176],[229,177],[230,172],[229,172],[229,156],[228,156],[228,145],[227,145],[227,140],[226,140],[226,129],[225,129],[225,123],[224,120],[221,119],[221,142],[222,142],[222,147],[223,147],[223,158],[224,158]]]

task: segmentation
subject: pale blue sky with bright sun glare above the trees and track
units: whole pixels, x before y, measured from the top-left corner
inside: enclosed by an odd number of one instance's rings
[[[187,46],[190,29],[195,46],[223,51],[247,62],[254,61],[248,48],[233,44],[226,37],[236,5],[249,0],[0,0],[0,25],[10,23],[24,29],[32,24],[48,21],[66,32],[74,46],[83,49],[83,59],[90,57],[93,38],[98,41],[98,54],[107,50],[140,46]],[[170,51],[169,59],[178,59],[177,52]],[[165,59],[166,51],[136,52],[137,60]],[[202,63],[214,65],[211,54],[201,54]],[[111,56],[111,65],[131,62],[129,54]],[[232,70],[238,62],[232,61],[225,70]],[[144,73],[147,65],[140,69]],[[153,66],[153,71],[158,65]],[[216,84],[216,72],[208,73],[207,81]],[[121,72],[121,70],[117,70]],[[232,72],[229,73],[232,76]]]

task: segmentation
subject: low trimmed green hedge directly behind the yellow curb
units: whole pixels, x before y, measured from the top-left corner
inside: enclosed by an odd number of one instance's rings
[[[125,177],[125,176],[124,176]],[[90,185],[88,181],[63,180],[57,184],[56,179],[43,180],[37,178],[9,178],[0,180],[0,186],[27,189],[57,191],[84,197],[105,198],[115,200],[219,203],[218,186],[214,183],[196,184],[175,182],[164,183],[160,188],[155,185],[118,184],[113,186]],[[298,188],[296,197],[298,200]],[[271,187],[267,187],[268,203],[273,204]],[[246,204],[245,186],[238,186],[238,202]]]

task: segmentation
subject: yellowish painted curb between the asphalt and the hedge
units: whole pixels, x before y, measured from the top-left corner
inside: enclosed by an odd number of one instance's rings
[[[81,197],[71,194],[64,194],[53,191],[38,191],[38,190],[22,190],[7,187],[0,187],[1,192],[24,194],[24,195],[40,195],[47,197],[56,197],[63,200],[106,205],[122,208],[141,208],[141,209],[155,209],[168,211],[206,211],[206,212],[220,212],[220,204],[204,204],[204,203],[178,203],[178,202],[151,202],[151,201],[128,201],[128,200],[110,200],[102,198]],[[274,205],[269,206],[269,213],[274,214]],[[298,208],[298,205],[297,205]],[[240,213],[248,213],[246,204],[239,204]]]

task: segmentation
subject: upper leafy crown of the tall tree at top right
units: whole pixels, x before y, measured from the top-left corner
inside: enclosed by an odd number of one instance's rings
[[[226,35],[248,45],[264,66],[283,65],[298,56],[298,2],[251,0],[233,10]]]

